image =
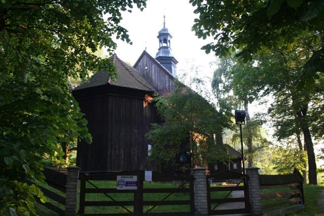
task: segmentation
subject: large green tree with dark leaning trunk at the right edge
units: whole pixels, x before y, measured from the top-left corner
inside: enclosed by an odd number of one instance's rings
[[[249,81],[251,89],[260,92],[260,96],[272,94],[274,103],[269,113],[274,122],[279,139],[303,133],[308,155],[309,183],[316,184],[316,163],[312,136],[318,131],[312,131],[314,122],[320,116],[312,107],[322,104],[323,76],[320,74],[314,83],[314,88],[301,90],[295,85],[299,79],[305,62],[311,58],[316,42],[309,41],[308,35],[300,35],[294,46],[282,47],[269,54],[255,56],[255,79]],[[322,126],[322,125],[321,125]],[[313,134],[311,133],[313,132]],[[321,135],[320,135],[321,136]]]

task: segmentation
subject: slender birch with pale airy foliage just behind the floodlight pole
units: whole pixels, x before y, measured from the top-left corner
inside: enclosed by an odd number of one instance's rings
[[[246,115],[248,167],[253,166],[253,128],[248,112],[248,104],[258,97],[258,92],[249,86],[254,79],[254,68],[249,62],[242,64],[233,58],[222,58],[219,67],[214,71],[212,89],[216,94],[220,112],[230,113],[233,109],[243,106]]]

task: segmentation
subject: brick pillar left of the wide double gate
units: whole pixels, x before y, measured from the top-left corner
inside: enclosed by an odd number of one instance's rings
[[[79,170],[78,166],[67,167],[65,215],[77,215]]]

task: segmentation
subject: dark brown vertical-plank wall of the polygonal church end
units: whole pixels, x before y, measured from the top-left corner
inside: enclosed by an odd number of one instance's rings
[[[91,145],[78,143],[77,166],[82,171],[158,170],[147,161],[146,133],[160,119],[154,105],[144,97],[76,97],[93,136]]]

